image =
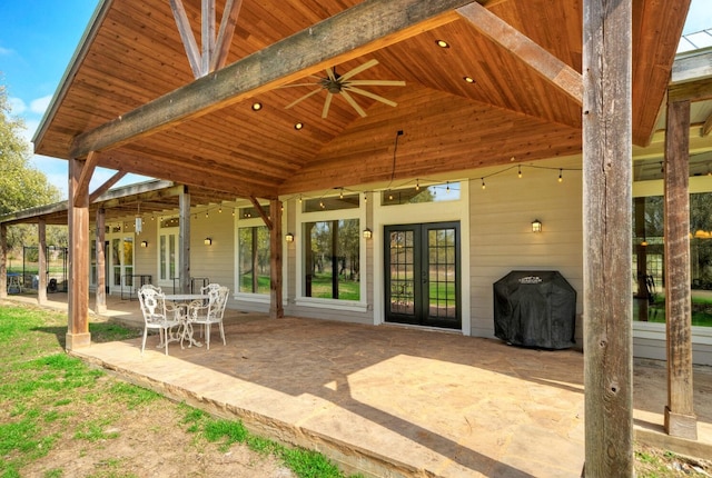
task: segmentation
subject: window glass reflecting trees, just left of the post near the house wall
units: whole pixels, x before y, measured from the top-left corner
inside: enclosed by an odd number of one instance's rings
[[[238,273],[240,292],[269,293],[269,230],[267,227],[239,228]]]

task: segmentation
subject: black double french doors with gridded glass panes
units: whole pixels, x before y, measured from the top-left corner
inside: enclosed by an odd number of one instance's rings
[[[459,222],[384,232],[386,322],[461,329]]]

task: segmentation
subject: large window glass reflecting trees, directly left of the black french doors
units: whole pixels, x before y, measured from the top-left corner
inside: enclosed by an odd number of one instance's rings
[[[306,297],[359,300],[358,219],[306,222]]]

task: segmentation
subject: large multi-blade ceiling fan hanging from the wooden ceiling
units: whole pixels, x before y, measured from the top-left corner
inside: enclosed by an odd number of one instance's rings
[[[352,80],[353,77],[365,71],[369,68],[378,64],[378,60],[369,60],[353,70],[338,74],[336,72],[336,68],[327,68],[326,77],[316,77],[310,76],[315,81],[308,83],[297,83],[297,84],[286,84],[284,88],[291,87],[318,87],[317,89],[306,93],[305,96],[296,99],[285,107],[285,109],[289,109],[295,104],[306,100],[307,98],[313,97],[319,91],[326,90],[326,100],[324,100],[324,108],[322,109],[322,118],[326,118],[329,113],[329,106],[332,104],[332,99],[335,94],[340,94],[347,103],[352,106],[356,110],[358,114],[363,117],[366,116],[366,111],[356,102],[354,97],[350,93],[360,94],[376,101],[380,101],[382,103],[395,107],[397,103],[387,98],[384,98],[379,94],[373,93],[370,91],[364,90],[359,87],[405,87],[405,81],[400,80]]]

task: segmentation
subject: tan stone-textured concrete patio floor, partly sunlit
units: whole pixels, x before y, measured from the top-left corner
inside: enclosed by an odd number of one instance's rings
[[[16,297],[10,297],[16,299]],[[50,307],[65,308],[61,297]],[[36,303],[33,298],[20,301]],[[103,317],[142,327],[138,302]],[[397,326],[228,310],[227,346],[150,336],[72,353],[251,431],[378,477],[577,477],[584,462],[583,355]],[[665,364],[635,360],[636,441],[712,456],[712,369],[695,368],[698,441],[663,431]]]

